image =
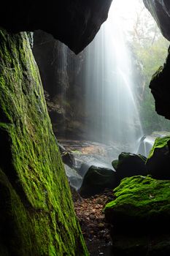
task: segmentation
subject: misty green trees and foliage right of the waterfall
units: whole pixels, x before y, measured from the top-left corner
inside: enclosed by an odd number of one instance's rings
[[[143,4],[139,4],[139,9],[136,11],[134,26],[129,33],[129,42],[140,69],[139,79],[142,89],[139,108],[144,133],[169,130],[170,121],[155,112],[155,101],[149,89],[152,75],[166,60],[169,41],[162,36]]]

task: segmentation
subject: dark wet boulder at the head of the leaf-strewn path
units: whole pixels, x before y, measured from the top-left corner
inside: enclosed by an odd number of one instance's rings
[[[85,173],[79,193],[82,197],[90,197],[104,192],[104,189],[113,189],[115,186],[116,175],[114,170],[92,165]]]

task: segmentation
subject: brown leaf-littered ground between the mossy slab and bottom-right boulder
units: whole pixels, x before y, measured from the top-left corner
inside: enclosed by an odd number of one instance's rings
[[[106,190],[102,195],[89,198],[74,197],[74,208],[90,256],[112,255],[112,239],[103,212],[106,203],[112,199],[112,190]]]

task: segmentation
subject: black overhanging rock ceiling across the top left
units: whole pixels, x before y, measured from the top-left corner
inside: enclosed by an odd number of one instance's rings
[[[18,31],[42,29],[79,53],[95,37],[107,19],[112,0],[4,1],[0,26]]]

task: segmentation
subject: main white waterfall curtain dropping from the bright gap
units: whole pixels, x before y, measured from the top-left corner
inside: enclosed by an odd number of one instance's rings
[[[116,4],[117,3],[117,4]],[[142,137],[131,53],[113,1],[107,22],[86,48],[86,115],[91,139],[136,152]]]

